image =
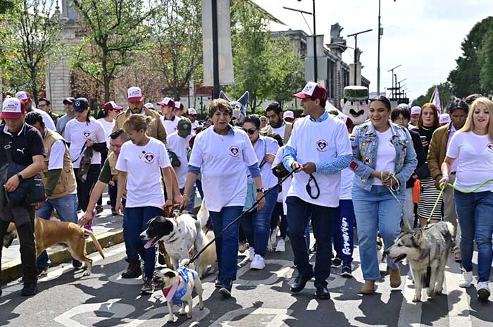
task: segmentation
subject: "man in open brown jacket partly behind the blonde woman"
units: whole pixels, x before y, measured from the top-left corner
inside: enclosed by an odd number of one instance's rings
[[[428,148],[428,169],[430,174],[435,180],[435,184],[439,189],[439,181],[442,179],[442,163],[444,162],[445,155],[447,154],[447,148],[449,147],[450,140],[457,130],[460,130],[466,123],[468,117],[469,106],[464,101],[454,101],[449,105],[448,113],[450,115],[451,122],[447,125],[435,130]],[[456,161],[457,163],[457,161]],[[454,164],[451,168],[449,183],[454,183],[456,179],[457,164]],[[451,187],[445,187],[443,193],[444,199],[444,221],[449,221],[454,225],[456,230],[456,238],[454,242],[454,253],[456,262],[462,261],[461,249],[458,247],[458,242],[461,236],[460,226],[457,224],[457,215],[454,202],[454,190]]]

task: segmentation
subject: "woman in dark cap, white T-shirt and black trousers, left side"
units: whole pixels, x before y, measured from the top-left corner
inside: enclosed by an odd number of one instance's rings
[[[101,171],[101,152],[106,151],[106,137],[103,126],[92,118],[89,102],[85,98],[77,98],[74,102],[75,119],[65,125],[65,142],[70,150],[77,180],[77,198],[82,211],[89,204],[89,194],[96,184]],[[80,172],[80,163],[85,154],[92,152],[89,169]]]

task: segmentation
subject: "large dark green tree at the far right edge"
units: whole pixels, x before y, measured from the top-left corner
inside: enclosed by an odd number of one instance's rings
[[[478,51],[482,49],[483,41],[487,39],[487,32],[491,30],[493,30],[492,16],[476,23],[462,42],[463,54],[456,59],[457,67],[449,73],[448,78],[457,97],[466,97],[473,93],[485,93],[482,81],[489,80],[493,75],[493,70],[482,69]],[[486,56],[486,50],[484,53],[483,58]]]

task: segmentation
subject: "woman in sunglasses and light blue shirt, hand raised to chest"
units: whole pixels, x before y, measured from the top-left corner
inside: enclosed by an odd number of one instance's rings
[[[272,137],[260,135],[261,121],[257,116],[246,116],[243,121],[243,130],[248,133],[251,144],[254,146],[255,155],[258,161],[258,168],[261,171],[262,185],[267,189],[277,184],[277,178],[272,173],[272,163],[279,145]],[[255,194],[254,180],[249,177],[249,192],[246,195],[244,209],[249,209],[249,204],[254,201]],[[270,217],[277,201],[277,189],[272,190],[266,195],[266,205],[261,210],[254,209],[243,217],[242,229],[246,240],[250,244],[250,269],[263,269],[266,257],[267,242],[270,235]],[[249,195],[251,197],[249,201]]]

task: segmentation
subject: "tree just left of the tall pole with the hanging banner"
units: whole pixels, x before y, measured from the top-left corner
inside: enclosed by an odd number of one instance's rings
[[[153,64],[161,73],[166,91],[180,100],[182,90],[202,63],[200,0],[156,0],[161,8],[154,27]]]

